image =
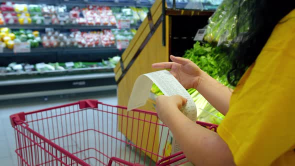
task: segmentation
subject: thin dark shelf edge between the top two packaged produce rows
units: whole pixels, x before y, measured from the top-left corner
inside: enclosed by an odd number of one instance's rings
[[[131,25],[130,28],[137,29],[139,27],[140,23],[136,25]],[[26,24],[26,25],[20,25],[20,24],[6,24],[6,25],[0,25],[0,27],[8,27],[10,29],[32,29],[32,30],[41,30],[45,28],[54,28],[58,30],[62,29],[84,29],[84,30],[95,30],[95,29],[114,29],[117,28],[116,26],[108,26],[108,25],[99,25],[99,26],[90,26],[90,25],[78,25],[78,24],[66,24],[66,25],[36,25],[36,24]]]

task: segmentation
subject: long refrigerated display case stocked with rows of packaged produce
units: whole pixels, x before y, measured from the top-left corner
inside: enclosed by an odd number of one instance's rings
[[[108,61],[122,54],[153,3],[0,2],[0,100],[116,89],[114,66]],[[52,63],[93,65],[60,69]],[[37,65],[47,68],[38,70]]]

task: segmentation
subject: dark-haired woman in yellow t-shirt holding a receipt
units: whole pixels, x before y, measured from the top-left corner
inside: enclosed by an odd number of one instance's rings
[[[295,165],[294,1],[254,1],[249,32],[229,58],[228,81],[239,80],[234,90],[188,59],[171,55],[172,62],[152,64],[170,68],[225,115],[215,133],[179,111],[185,98],[157,97],[159,118],[195,165]]]

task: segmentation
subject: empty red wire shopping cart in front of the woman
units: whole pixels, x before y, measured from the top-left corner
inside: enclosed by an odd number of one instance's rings
[[[81,100],[12,114],[10,121],[18,165],[163,166],[185,160],[182,152],[164,156],[169,129],[151,111]]]

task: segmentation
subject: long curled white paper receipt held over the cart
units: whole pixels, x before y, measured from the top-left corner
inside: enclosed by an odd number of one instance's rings
[[[182,106],[180,111],[190,120],[196,120],[196,106],[191,96],[178,80],[167,70],[150,72],[138,76],[133,85],[127,110],[135,109],[146,103],[153,82],[166,96],[178,94],[186,98],[187,102]],[[171,153],[173,154],[178,151],[180,151],[179,144],[175,143],[175,139],[173,139]]]

